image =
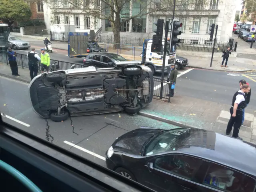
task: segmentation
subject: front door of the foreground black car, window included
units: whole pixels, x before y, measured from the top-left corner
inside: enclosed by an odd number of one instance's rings
[[[194,174],[202,164],[202,160],[183,154],[158,156],[147,162],[154,179],[148,185],[165,191],[196,192]],[[158,178],[155,180],[155,178]]]

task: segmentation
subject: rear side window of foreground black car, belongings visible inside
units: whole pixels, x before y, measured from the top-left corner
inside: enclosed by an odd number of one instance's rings
[[[256,180],[254,178],[219,164],[207,163],[209,166],[202,181],[203,185],[230,192],[253,192],[255,190]]]

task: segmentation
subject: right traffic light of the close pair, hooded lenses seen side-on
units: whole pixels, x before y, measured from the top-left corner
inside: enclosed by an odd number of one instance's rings
[[[170,53],[176,52],[176,45],[180,43],[178,35],[181,35],[181,31],[178,28],[182,27],[182,23],[178,20],[172,21],[171,39],[170,39]]]

